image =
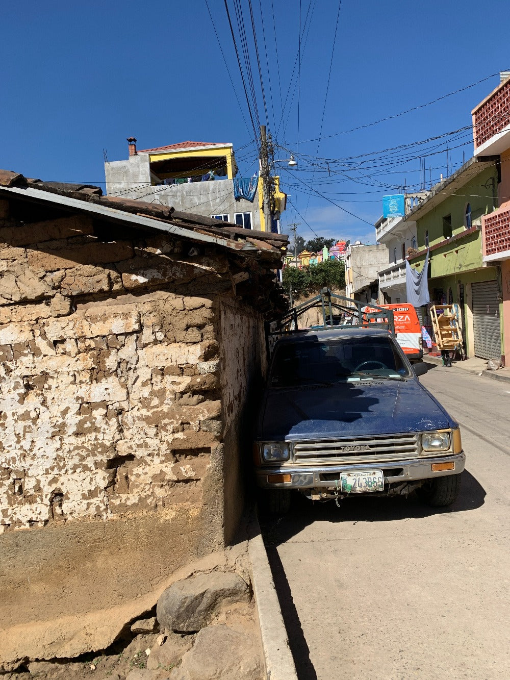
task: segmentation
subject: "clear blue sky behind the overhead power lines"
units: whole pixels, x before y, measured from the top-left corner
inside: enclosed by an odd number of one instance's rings
[[[224,1],[207,1],[235,92],[205,0],[4,3],[0,167],[104,187],[103,149],[109,160],[126,158],[126,137],[133,135],[139,148],[187,139],[232,142],[241,174],[251,175],[257,152]],[[373,242],[370,224],[381,215],[381,197],[398,187],[419,188],[419,156],[430,186],[430,179],[446,174],[447,146],[449,169],[462,164],[462,152],[466,160],[473,154],[471,132],[462,129],[471,124],[471,109],[498,84],[496,75],[371,124],[510,69],[505,1],[482,7],[475,0],[342,0],[324,109],[338,0],[252,0],[267,120],[249,3],[239,1],[260,122],[282,147],[275,158],[294,152],[299,161],[294,171],[279,164],[294,206],[284,214],[284,231],[301,222],[299,233],[313,237],[305,218],[318,235]],[[241,50],[234,0],[228,6]],[[291,80],[300,54],[301,69]],[[318,138],[323,112],[318,148],[318,141],[307,140]],[[438,153],[428,155],[432,151]]]

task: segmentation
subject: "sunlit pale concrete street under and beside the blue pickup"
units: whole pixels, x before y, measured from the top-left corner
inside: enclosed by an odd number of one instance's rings
[[[454,506],[297,498],[263,527],[300,680],[509,676],[510,383],[421,381],[461,424]]]

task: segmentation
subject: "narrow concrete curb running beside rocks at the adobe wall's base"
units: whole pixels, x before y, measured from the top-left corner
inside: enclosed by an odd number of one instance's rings
[[[252,532],[254,537],[248,541],[248,555],[253,568],[253,590],[267,678],[268,680],[298,680],[273,574],[255,512],[252,512],[250,524],[254,529]]]

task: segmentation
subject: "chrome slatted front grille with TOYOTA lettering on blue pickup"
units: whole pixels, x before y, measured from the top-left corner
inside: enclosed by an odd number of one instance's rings
[[[356,439],[294,442],[294,463],[362,463],[419,457],[418,435],[374,435]]]

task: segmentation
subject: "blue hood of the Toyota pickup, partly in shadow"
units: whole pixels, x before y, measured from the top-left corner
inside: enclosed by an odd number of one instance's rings
[[[267,390],[258,439],[365,437],[456,426],[417,379]]]

